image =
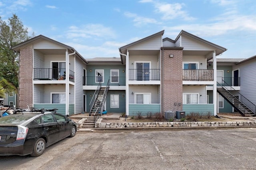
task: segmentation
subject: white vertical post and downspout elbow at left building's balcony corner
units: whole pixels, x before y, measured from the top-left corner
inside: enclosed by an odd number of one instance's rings
[[[74,55],[76,53],[76,51],[74,51],[74,53],[70,53],[68,54],[68,51],[66,51],[66,113],[68,113],[67,115],[69,115],[69,56],[70,55]],[[75,109],[74,109],[75,110]]]

